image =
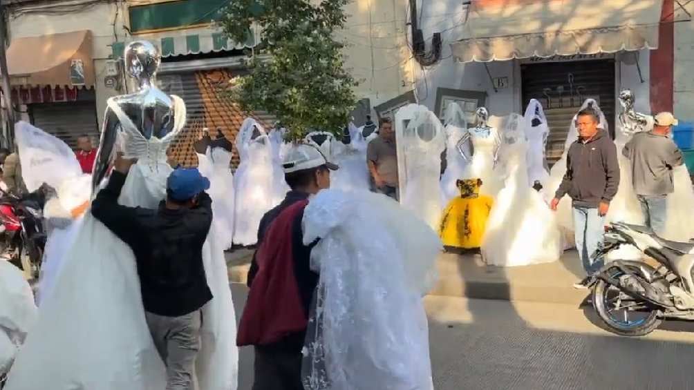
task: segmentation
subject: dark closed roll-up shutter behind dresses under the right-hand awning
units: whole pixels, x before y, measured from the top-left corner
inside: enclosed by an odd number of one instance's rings
[[[561,158],[570,121],[586,98],[598,101],[614,134],[614,60],[521,65],[523,111],[530,99],[542,103],[550,127],[545,153],[550,165]]]

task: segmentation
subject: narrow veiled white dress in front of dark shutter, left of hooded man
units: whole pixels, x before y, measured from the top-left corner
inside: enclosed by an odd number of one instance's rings
[[[542,105],[536,99],[530,99],[523,116],[525,139],[527,140],[527,176],[528,184],[532,187],[535,181],[543,186],[550,178],[545,160],[545,143],[550,134],[547,117]],[[537,122],[535,126],[533,123]]]

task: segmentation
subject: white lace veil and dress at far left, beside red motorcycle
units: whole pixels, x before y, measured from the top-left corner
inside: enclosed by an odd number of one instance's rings
[[[92,195],[92,176],[82,173],[74,152],[56,136],[26,122],[15,125],[17,150],[23,159],[27,189],[47,184],[56,197],[44,207],[48,238],[44,246],[37,301],[51,295],[65,252],[71,247]]]

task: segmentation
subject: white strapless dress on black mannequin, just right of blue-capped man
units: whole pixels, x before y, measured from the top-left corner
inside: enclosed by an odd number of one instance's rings
[[[208,148],[205,154],[198,154],[198,170],[210,179],[208,193],[212,198],[217,242],[223,249],[229,249],[234,238],[234,175],[231,173],[232,152],[224,148]]]

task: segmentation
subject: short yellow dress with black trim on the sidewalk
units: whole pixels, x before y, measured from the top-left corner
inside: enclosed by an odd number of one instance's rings
[[[439,236],[446,247],[479,248],[493,200],[480,195],[481,179],[458,180],[460,197],[448,203],[439,225]]]

